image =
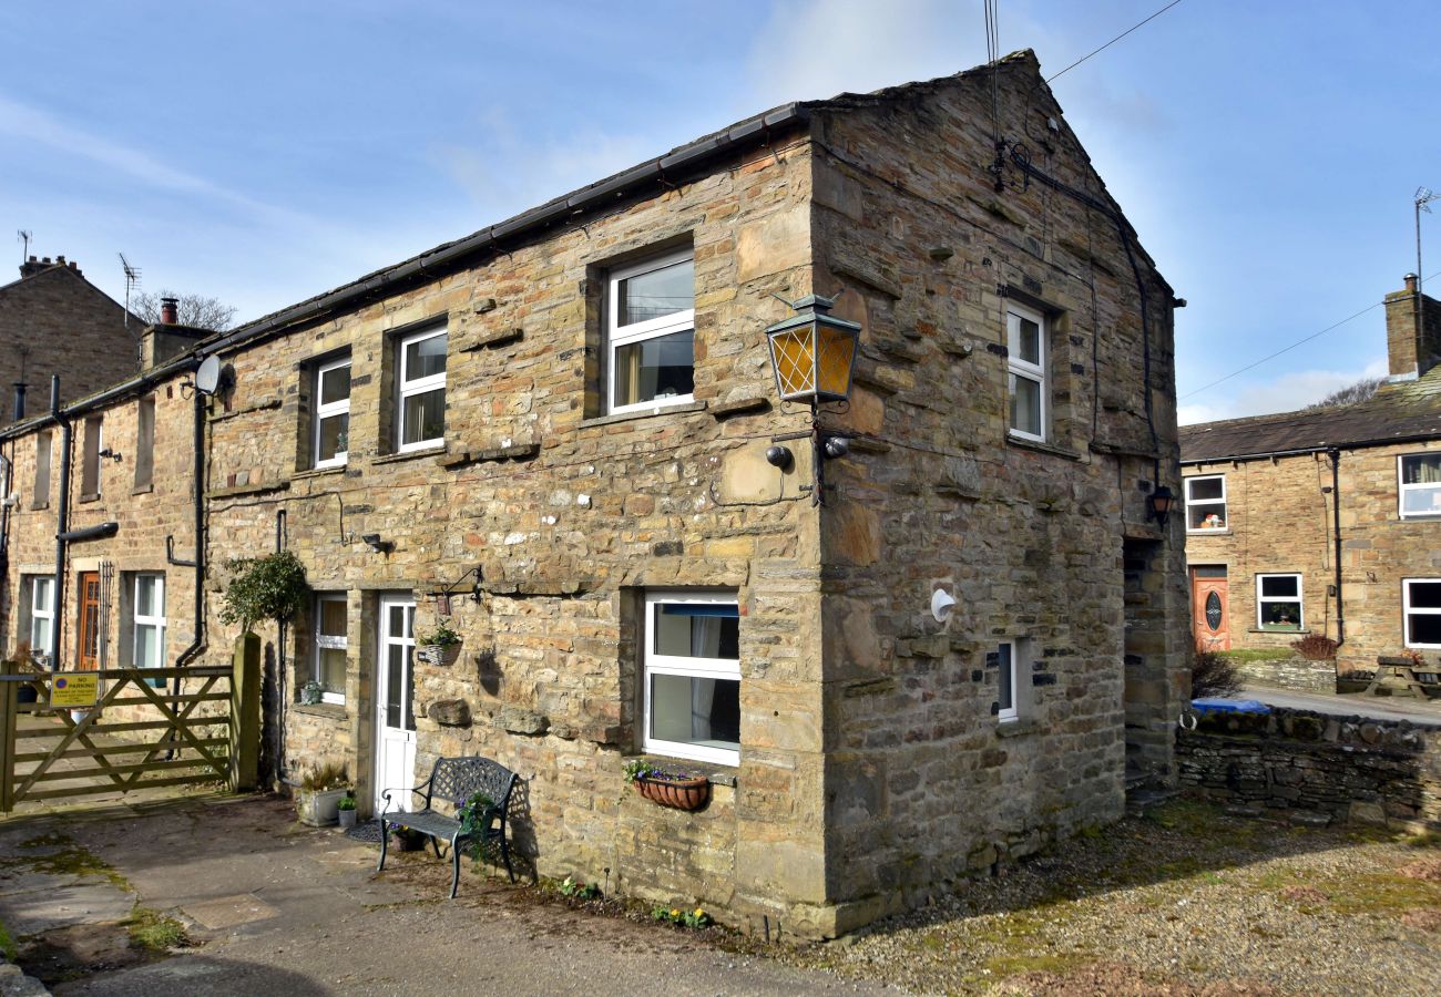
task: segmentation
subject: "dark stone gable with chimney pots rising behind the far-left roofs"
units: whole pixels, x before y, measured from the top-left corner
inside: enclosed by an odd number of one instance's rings
[[[26,411],[45,412],[50,377],[62,376],[62,402],[108,388],[140,369],[144,323],[85,280],[65,256],[20,264],[20,280],[0,287],[0,386],[26,385]],[[14,409],[6,405],[6,419]]]

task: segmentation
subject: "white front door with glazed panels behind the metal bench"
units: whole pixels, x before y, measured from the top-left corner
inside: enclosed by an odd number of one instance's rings
[[[380,596],[380,640],[375,696],[375,813],[411,810],[415,785],[415,602],[409,595]],[[399,792],[395,792],[399,790]]]

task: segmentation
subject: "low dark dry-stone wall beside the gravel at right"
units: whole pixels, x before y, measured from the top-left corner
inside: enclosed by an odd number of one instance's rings
[[[1274,709],[1202,715],[1180,784],[1303,823],[1441,827],[1441,726]]]

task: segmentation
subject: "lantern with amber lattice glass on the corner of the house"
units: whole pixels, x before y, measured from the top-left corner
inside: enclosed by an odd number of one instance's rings
[[[820,428],[820,406],[850,398],[850,379],[856,369],[860,324],[836,318],[830,310],[836,298],[808,294],[800,301],[787,301],[795,314],[765,330],[771,350],[771,370],[775,373],[775,393],[782,402],[806,402],[811,406],[810,432],[775,437],[782,439],[811,438],[814,451],[811,467],[811,504],[824,504],[824,464],[827,458],[844,457],[850,445],[844,437],[824,434]],[[771,450],[775,450],[774,447]],[[767,451],[771,460],[771,451]],[[771,461],[774,464],[774,461]],[[777,464],[780,467],[780,464]]]

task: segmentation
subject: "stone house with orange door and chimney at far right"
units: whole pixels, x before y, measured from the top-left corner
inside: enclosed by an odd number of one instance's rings
[[[1182,428],[1200,645],[1320,634],[1343,673],[1408,650],[1437,670],[1441,303],[1421,304],[1414,275],[1386,295],[1391,377],[1370,399]]]

